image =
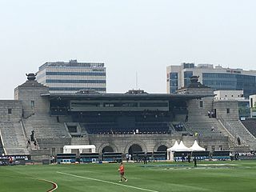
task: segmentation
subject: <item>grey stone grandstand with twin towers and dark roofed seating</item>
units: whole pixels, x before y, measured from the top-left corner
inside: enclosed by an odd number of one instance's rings
[[[255,130],[239,120],[238,102],[214,101],[214,90],[197,77],[175,94],[50,94],[34,74],[27,76],[14,90],[14,100],[0,101],[2,154],[41,160],[62,153],[66,145],[94,145],[98,154],[154,153],[175,141],[192,146],[194,140],[211,152],[256,149]]]

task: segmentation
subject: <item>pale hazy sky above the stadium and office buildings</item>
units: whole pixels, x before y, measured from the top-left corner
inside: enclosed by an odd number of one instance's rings
[[[0,99],[45,62],[104,62],[107,92],[166,93],[166,66],[256,70],[254,0],[0,0]]]

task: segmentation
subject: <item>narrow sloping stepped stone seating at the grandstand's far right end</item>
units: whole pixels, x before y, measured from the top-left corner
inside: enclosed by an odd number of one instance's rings
[[[241,144],[250,146],[250,150],[256,150],[256,138],[249,130],[242,124],[240,120],[224,120],[222,122],[226,129],[234,136],[240,138]]]

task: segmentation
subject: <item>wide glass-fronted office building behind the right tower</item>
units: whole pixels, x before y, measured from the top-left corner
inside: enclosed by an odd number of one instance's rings
[[[214,90],[243,90],[244,97],[256,94],[256,70],[223,68],[212,64],[183,62],[180,66],[167,66],[167,93],[190,84],[192,75],[199,76],[198,82]]]

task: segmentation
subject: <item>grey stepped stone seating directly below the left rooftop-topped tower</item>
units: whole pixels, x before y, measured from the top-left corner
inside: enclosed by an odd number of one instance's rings
[[[64,123],[57,122],[56,117],[46,114],[34,114],[23,119],[27,137],[34,130],[34,138],[71,138]]]

